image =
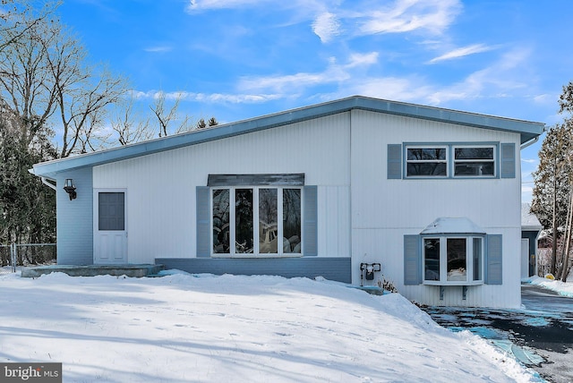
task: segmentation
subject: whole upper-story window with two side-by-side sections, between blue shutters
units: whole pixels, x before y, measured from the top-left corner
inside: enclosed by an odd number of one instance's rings
[[[495,177],[497,145],[406,145],[406,177]]]

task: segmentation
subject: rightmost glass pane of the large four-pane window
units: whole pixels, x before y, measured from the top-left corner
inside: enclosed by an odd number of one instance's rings
[[[300,189],[283,189],[283,252],[301,252]]]

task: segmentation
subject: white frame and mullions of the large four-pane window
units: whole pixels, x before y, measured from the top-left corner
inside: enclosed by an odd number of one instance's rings
[[[250,253],[240,253],[236,252],[235,246],[229,246],[229,252],[220,253],[213,251],[213,191],[216,190],[228,190],[229,191],[229,236],[231,240],[235,238],[235,191],[239,189],[252,189],[252,233],[253,233],[253,251]],[[278,233],[283,233],[283,190],[285,189],[297,189],[301,193],[301,251],[300,252],[284,252],[282,245],[277,245],[277,253],[267,253],[260,252],[259,243],[259,191],[261,189],[277,189],[277,200],[278,200]],[[248,258],[300,258],[304,256],[304,186],[290,185],[290,184],[257,184],[257,185],[226,185],[226,186],[211,186],[209,187],[209,207],[210,207],[210,257],[211,258],[237,258],[237,259],[248,259]],[[280,238],[281,235],[278,235]],[[229,240],[231,242],[231,240]]]

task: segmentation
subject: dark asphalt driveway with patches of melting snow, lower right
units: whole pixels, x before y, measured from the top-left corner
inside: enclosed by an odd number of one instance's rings
[[[521,310],[425,307],[453,331],[490,340],[554,383],[573,382],[573,298],[536,285],[521,286]]]

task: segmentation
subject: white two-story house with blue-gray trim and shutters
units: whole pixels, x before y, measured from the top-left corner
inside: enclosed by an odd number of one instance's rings
[[[543,127],[351,97],[32,172],[56,185],[59,264],[386,278],[415,302],[518,307],[519,150]]]

